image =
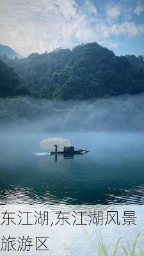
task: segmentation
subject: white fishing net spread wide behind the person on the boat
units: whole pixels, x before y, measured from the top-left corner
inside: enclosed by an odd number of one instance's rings
[[[58,145],[58,151],[63,150],[64,147],[70,147],[71,143],[63,138],[47,138],[40,142],[40,147],[44,150],[54,150],[54,145]]]

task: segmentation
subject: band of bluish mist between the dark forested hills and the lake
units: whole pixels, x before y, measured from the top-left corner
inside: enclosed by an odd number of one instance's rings
[[[88,101],[0,100],[1,131],[143,131],[144,94]]]

